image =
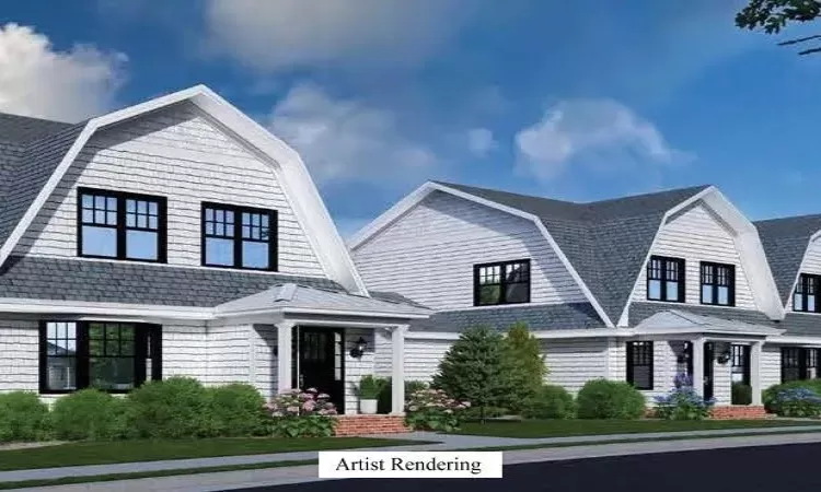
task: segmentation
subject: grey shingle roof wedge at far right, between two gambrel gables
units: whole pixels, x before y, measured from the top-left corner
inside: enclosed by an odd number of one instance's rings
[[[754,222],[782,302],[786,304],[810,237],[821,231],[821,214]]]

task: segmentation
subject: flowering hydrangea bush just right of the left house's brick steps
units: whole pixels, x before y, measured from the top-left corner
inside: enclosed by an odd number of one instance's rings
[[[459,430],[470,401],[459,401],[442,389],[419,389],[405,402],[405,423],[420,431]]]

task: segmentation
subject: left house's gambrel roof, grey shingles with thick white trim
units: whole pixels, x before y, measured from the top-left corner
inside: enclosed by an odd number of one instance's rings
[[[76,273],[79,278],[82,278],[82,272],[90,273],[91,270],[96,269],[95,273],[102,276],[101,278],[108,279],[112,285],[120,288],[115,288],[112,293],[103,293],[89,292],[89,289],[92,289],[89,285],[77,285],[77,291],[55,292],[54,295],[57,295],[57,297],[51,298],[58,300],[63,298],[63,296],[67,296],[65,298],[113,296],[119,298],[120,302],[154,303],[160,302],[167,295],[169,298],[182,301],[178,298],[180,295],[172,292],[173,289],[170,289],[169,292],[163,291],[163,279],[167,277],[163,272],[178,274],[183,280],[183,286],[190,286],[195,291],[197,288],[195,278],[198,281],[213,281],[216,284],[227,288],[224,293],[218,293],[215,296],[210,296],[208,292],[192,293],[185,289],[181,292],[183,296],[201,294],[200,301],[190,302],[206,304],[224,302],[227,301],[223,298],[224,295],[236,294],[230,297],[236,298],[241,294],[253,293],[251,291],[259,292],[269,288],[276,281],[281,282],[280,279],[276,278],[277,276],[263,279],[254,274],[226,276],[223,273],[206,274],[192,271],[175,272],[174,268],[170,266],[162,266],[157,270],[147,266],[143,270],[137,267],[139,271],[136,271],[136,273],[138,277],[144,274],[146,279],[148,279],[148,276],[155,273],[157,284],[153,286],[141,285],[141,293],[135,294],[134,290],[125,289],[126,285],[123,283],[125,280],[122,282],[117,280],[122,279],[126,271],[134,270],[134,266],[91,266],[90,262],[81,266],[69,259],[16,258],[12,261],[11,254],[15,245],[58,186],[69,166],[72,165],[77,155],[95,132],[177,104],[195,105],[216,121],[222,131],[242,142],[244,147],[275,169],[282,187],[289,191],[291,208],[300,220],[302,227],[305,229],[308,241],[315,250],[326,276],[332,279],[331,283],[354,294],[368,295],[365,283],[359,278],[345,243],[339,237],[299,154],[208,87],[197,85],[79,124],[0,114],[0,192],[2,198],[2,201],[0,201],[0,267],[5,272],[3,278],[0,279],[0,297],[3,295],[20,297],[23,295],[26,289],[31,286],[32,280],[25,280],[22,276],[30,274],[34,270],[61,272],[63,273],[62,277]],[[163,270],[160,271],[161,269]],[[190,284],[185,282],[186,279],[192,279]],[[166,280],[170,282],[167,286],[173,288],[173,280]],[[130,286],[137,288],[137,285]],[[33,296],[43,298],[42,292],[48,289],[56,289],[56,286],[44,288],[39,294],[35,292],[36,289],[28,289],[27,292]],[[141,298],[134,298],[135,295],[141,296]]]

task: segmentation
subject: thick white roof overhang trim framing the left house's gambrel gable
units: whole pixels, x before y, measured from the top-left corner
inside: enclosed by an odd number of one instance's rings
[[[219,124],[223,130],[236,137],[252,152],[263,157],[263,162],[271,165],[278,179],[285,184],[281,188],[294,214],[299,218],[302,226],[305,227],[308,241],[316,253],[325,273],[348,291],[367,295],[365,282],[359,277],[345,243],[331,220],[316,186],[299,154],[205,85],[196,85],[90,119],[54,174],[46,181],[46,185],[25,211],[23,218],[14,226],[5,243],[0,247],[0,265],[11,255],[43,204],[51,196],[68,168],[94,133],[113,125],[183,102],[190,102],[196,105]]]

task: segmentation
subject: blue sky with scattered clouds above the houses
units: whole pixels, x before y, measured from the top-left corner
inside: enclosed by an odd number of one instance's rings
[[[205,83],[302,153],[346,236],[426,179],[821,212],[821,55],[736,28],[742,4],[9,2],[0,110],[78,120]]]

